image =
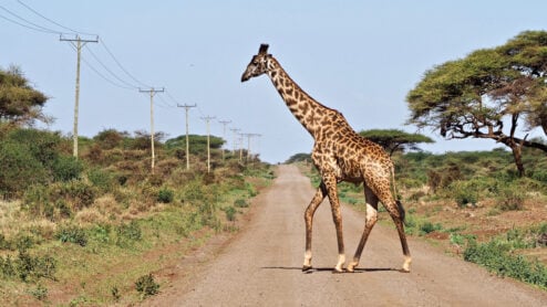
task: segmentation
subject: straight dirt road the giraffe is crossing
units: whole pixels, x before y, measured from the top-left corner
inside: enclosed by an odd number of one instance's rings
[[[376,224],[360,269],[331,274],[337,243],[326,201],[316,214],[314,271],[303,274],[303,210],[313,188],[293,166],[280,166],[275,184],[254,205],[249,225],[205,263],[189,282],[146,300],[151,306],[547,306],[547,293],[491,276],[483,268],[410,240],[412,272],[399,273],[396,231]],[[363,229],[362,213],[343,208],[347,256]],[[386,213],[381,213],[386,214]]]

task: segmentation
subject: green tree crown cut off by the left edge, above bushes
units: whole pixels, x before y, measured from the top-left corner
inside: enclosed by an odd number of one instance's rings
[[[35,119],[48,121],[42,114],[47,100],[44,94],[29,85],[19,67],[0,68],[0,121],[16,125],[30,125]]]

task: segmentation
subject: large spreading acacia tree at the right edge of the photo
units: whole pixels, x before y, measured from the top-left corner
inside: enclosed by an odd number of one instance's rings
[[[547,152],[528,133],[547,135],[547,32],[527,31],[425,72],[407,94],[409,124],[448,139],[489,138],[509,147],[520,176],[522,148]]]

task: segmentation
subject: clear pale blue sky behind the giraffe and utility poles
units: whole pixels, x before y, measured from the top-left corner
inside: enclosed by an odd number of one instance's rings
[[[415,127],[404,125],[405,95],[426,70],[504,44],[522,31],[547,29],[544,0],[1,0],[0,66],[20,66],[50,97],[44,112],[55,123],[49,128],[65,135],[73,123],[75,51],[59,34],[3,18],[70,31],[21,2],[65,28],[100,36],[100,43],[89,43],[82,52],[89,64],[82,63],[80,135],[92,137],[107,128],[149,130],[149,97],[137,87],[165,87],[166,93],[155,96],[156,131],[183,135],[184,109],[176,104],[197,104],[189,112],[190,134],[205,135],[200,118],[215,116],[211,134],[223,137],[217,120],[231,120],[228,128],[261,135],[251,141],[251,151],[269,162],[310,152],[313,140],[266,76],[240,83],[260,43],[269,43],[269,52],[292,78],[342,112],[355,130],[414,133]],[[447,141],[434,131],[421,133],[435,139],[422,146],[433,152],[499,147],[491,140]],[[226,138],[231,148],[231,133]]]

